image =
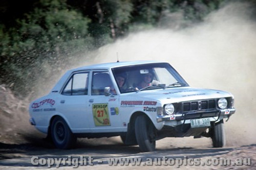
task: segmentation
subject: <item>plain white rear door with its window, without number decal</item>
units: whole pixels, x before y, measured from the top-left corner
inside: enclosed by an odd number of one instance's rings
[[[73,133],[90,132],[89,71],[75,72],[59,96],[59,113],[66,118]]]

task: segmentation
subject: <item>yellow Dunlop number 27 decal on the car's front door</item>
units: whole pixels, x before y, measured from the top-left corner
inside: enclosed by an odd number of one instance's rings
[[[93,119],[95,126],[110,126],[108,104],[93,104]]]

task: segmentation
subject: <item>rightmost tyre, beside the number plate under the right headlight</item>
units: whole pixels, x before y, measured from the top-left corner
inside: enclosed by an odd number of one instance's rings
[[[221,148],[225,146],[226,137],[225,137],[223,119],[220,122],[216,123],[212,128],[211,139],[212,139],[213,147]]]

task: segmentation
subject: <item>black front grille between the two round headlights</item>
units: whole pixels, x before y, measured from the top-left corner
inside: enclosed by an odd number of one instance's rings
[[[181,112],[212,110],[216,108],[215,100],[192,101],[181,103]]]

